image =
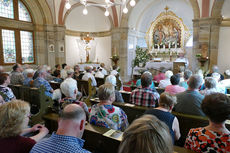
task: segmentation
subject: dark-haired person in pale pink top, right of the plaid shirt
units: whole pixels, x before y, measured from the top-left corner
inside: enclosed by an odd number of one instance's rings
[[[171,76],[170,82],[172,85],[168,85],[165,88],[165,92],[167,92],[171,95],[175,95],[177,93],[185,91],[184,87],[179,86],[179,82],[180,82],[180,75],[179,74]]]

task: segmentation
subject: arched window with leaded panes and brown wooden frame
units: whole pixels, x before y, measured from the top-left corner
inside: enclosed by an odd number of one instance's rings
[[[34,32],[23,26],[32,24],[30,12],[20,0],[0,0],[0,20],[9,25],[0,25],[0,64],[34,64]],[[17,21],[18,25],[10,25]]]

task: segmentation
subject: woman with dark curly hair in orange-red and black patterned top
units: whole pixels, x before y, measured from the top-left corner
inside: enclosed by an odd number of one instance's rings
[[[200,153],[230,152],[230,131],[225,127],[230,117],[230,99],[221,93],[211,94],[204,98],[201,108],[209,118],[209,125],[191,129],[185,148]]]

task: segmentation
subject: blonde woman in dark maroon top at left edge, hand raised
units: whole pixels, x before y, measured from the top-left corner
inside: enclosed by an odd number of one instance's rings
[[[0,152],[29,153],[35,143],[48,134],[48,129],[40,124],[27,128],[30,106],[21,100],[14,100],[0,106]],[[26,138],[29,132],[39,131],[33,137]]]

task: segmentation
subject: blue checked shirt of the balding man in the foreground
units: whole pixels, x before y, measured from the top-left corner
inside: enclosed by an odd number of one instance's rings
[[[83,149],[84,140],[73,136],[57,135],[38,142],[30,153],[90,153]]]

